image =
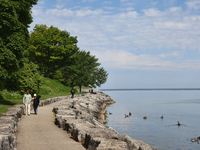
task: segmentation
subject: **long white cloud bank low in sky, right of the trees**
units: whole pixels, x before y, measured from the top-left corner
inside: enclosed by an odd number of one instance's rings
[[[170,60],[163,60],[161,58],[174,56],[179,56],[178,52],[172,52],[171,54],[161,54],[158,56],[153,56],[149,54],[135,55],[130,52],[125,51],[105,51],[97,52],[93,51],[93,55],[99,58],[103,66],[107,68],[116,69],[128,69],[128,70],[180,70],[185,68],[198,68],[200,65],[195,65],[193,62],[173,62]]]

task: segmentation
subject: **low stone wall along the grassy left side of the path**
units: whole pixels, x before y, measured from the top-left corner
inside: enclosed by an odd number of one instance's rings
[[[75,95],[78,97],[81,95]],[[62,96],[49,98],[40,101],[39,106],[44,106],[62,99],[70,98],[71,96]],[[31,103],[31,109],[33,108],[33,103]],[[0,150],[16,150],[16,136],[17,132],[17,122],[22,119],[24,114],[24,105],[15,105],[14,107],[8,108],[8,112],[1,114],[0,117]]]

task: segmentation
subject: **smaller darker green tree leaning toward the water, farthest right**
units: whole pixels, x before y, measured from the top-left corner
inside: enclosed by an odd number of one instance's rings
[[[74,64],[62,70],[64,82],[68,86],[79,86],[80,91],[82,86],[101,86],[106,82],[108,73],[103,67],[98,68],[100,65],[98,58],[90,55],[90,52],[79,51]]]

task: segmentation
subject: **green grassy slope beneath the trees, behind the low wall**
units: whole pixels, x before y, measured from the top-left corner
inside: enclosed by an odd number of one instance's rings
[[[70,87],[66,87],[63,84],[52,79],[43,78],[40,92],[36,94],[41,95],[40,100],[44,100],[51,97],[71,95],[70,91]],[[30,91],[30,94],[33,96],[34,93],[31,93]],[[7,90],[0,91],[0,114],[6,112],[7,108],[13,107],[13,105],[23,104],[22,99],[23,95],[20,95],[17,92],[8,92]]]

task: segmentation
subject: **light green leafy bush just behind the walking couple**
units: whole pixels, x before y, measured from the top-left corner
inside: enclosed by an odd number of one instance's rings
[[[19,71],[13,73],[7,81],[7,89],[25,93],[29,90],[31,94],[39,93],[42,77],[38,72],[38,66],[34,63],[25,64]]]

